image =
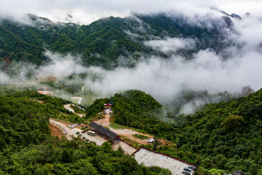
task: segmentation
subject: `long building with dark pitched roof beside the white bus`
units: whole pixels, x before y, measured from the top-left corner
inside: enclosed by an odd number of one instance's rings
[[[98,123],[95,122],[91,122],[89,124],[90,129],[92,131],[95,131],[96,133],[98,133],[100,136],[102,136],[103,138],[109,140],[112,139],[114,143],[118,142],[120,140],[120,136],[116,133],[114,133],[113,131],[110,131],[109,129],[99,125]]]

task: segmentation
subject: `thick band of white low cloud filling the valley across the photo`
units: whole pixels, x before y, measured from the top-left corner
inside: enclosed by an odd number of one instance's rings
[[[174,100],[184,88],[193,90],[208,90],[209,93],[218,93],[225,90],[240,92],[241,88],[250,85],[254,90],[262,88],[262,59],[261,53],[256,50],[237,54],[227,60],[222,59],[213,50],[199,51],[192,60],[173,55],[168,59],[150,56],[134,68],[118,67],[115,70],[105,70],[100,67],[82,67],[78,57],[61,56],[58,53],[47,52],[51,59],[49,65],[35,70],[35,77],[56,76],[63,78],[71,74],[87,73],[86,79],[75,79],[97,93],[99,97],[109,97],[127,89],[140,89],[150,93],[161,103],[166,104]],[[149,55],[148,55],[149,57]],[[28,65],[26,66],[28,68]],[[26,78],[26,67],[17,78],[10,78],[0,73],[0,84],[6,83],[34,85],[39,90],[46,90],[35,81]],[[33,67],[33,66],[32,66]],[[33,69],[33,68],[32,68]],[[72,83],[72,82],[70,82]],[[56,92],[67,99],[70,95],[62,91]],[[203,102],[204,103],[204,102]],[[196,102],[190,102],[181,108],[181,112],[190,113],[196,107]]]

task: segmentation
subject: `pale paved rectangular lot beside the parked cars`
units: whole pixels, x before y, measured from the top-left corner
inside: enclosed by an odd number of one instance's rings
[[[184,175],[182,174],[183,168],[190,165],[175,158],[148,151],[145,148],[140,148],[140,150],[134,154],[134,158],[139,164],[143,162],[145,166],[168,168],[173,175]],[[194,170],[191,170],[190,175],[193,174]]]

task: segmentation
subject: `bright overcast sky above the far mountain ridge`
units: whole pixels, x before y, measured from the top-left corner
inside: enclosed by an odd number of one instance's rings
[[[207,13],[209,7],[229,14],[243,16],[249,12],[262,17],[262,0],[0,0],[0,18],[21,19],[24,14],[32,13],[55,22],[89,24],[103,17],[130,16],[131,12],[194,15]]]

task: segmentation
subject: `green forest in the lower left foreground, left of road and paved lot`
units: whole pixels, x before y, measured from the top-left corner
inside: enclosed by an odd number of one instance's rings
[[[97,146],[50,136],[49,117],[61,110],[66,103],[62,99],[35,90],[1,88],[0,94],[1,175],[171,175],[166,169],[139,165],[108,142]]]

